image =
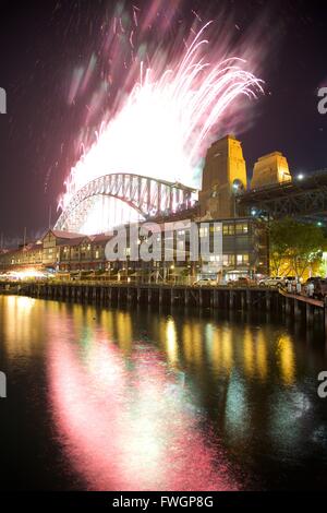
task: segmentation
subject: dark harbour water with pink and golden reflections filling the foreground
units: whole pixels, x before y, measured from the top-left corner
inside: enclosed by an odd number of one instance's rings
[[[327,486],[317,329],[0,296],[1,489]]]

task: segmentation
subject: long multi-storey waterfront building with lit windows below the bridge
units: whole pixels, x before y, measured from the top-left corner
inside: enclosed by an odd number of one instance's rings
[[[105,249],[111,239],[108,235],[81,236],[81,234],[48,230],[37,243],[9,250],[0,254],[0,269],[2,272],[22,271],[26,269],[43,269],[53,273],[78,272],[109,273],[111,278],[133,279],[145,278],[169,279],[180,282],[190,281],[199,276],[223,276],[235,279],[238,276],[253,276],[266,274],[268,271],[267,237],[264,225],[251,217],[209,219],[205,222],[205,228],[199,226],[199,241],[202,230],[209,230],[209,239],[214,237],[216,226],[221,229],[221,252],[210,254],[207,260],[198,258],[196,262],[190,259],[190,234],[185,235],[185,259],[179,261],[178,230],[166,237],[172,237],[173,255],[169,262],[165,261],[165,244],[162,244],[161,260],[144,262],[132,261],[129,256],[130,248],[126,247],[124,261],[108,262]],[[164,228],[164,226],[161,226]],[[129,226],[128,226],[129,230]]]

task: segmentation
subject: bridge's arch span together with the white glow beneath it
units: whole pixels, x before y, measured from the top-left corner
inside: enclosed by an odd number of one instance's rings
[[[190,211],[195,202],[196,191],[181,183],[129,172],[110,174],[81,188],[61,213],[55,228],[96,234],[131,220],[168,217]]]

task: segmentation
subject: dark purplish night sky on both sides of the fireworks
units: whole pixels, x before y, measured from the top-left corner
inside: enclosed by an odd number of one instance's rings
[[[111,3],[0,1],[0,87],[8,98],[8,114],[0,116],[0,232],[8,242],[23,237],[24,226],[28,238],[40,235],[49,205],[56,220],[64,178],[78,158],[76,141],[101,120],[99,111],[84,127],[87,94],[73,105],[66,97],[74,69],[98,50]],[[147,9],[148,2],[133,4]],[[327,115],[317,110],[317,91],[327,85],[327,4],[187,0],[181,17],[205,5],[211,16],[220,13],[222,25],[221,12],[228,13],[240,36],[253,26],[261,34],[266,93],[253,105],[246,130],[237,133],[249,175],[259,156],[276,150],[294,174],[327,168]]]

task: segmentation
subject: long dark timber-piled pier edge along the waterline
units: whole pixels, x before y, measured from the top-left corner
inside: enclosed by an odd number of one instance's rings
[[[99,282],[29,282],[2,284],[0,294],[35,298],[89,302],[104,307],[136,303],[170,307],[197,307],[213,310],[276,312],[305,321],[324,323],[327,333],[327,307],[323,300],[288,294],[266,287],[186,286],[170,284],[130,284]]]

